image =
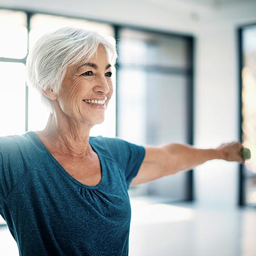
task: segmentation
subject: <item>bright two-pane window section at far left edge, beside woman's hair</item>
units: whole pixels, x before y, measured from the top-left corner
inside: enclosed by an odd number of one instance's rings
[[[25,130],[27,19],[22,11],[0,10],[0,136]]]

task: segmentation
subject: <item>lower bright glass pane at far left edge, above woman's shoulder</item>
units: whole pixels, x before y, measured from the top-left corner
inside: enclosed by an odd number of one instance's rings
[[[25,66],[0,62],[0,71],[0,136],[23,134],[26,118]]]

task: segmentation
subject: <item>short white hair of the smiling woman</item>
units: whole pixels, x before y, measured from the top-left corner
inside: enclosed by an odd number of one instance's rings
[[[64,27],[43,35],[36,42],[27,56],[27,85],[38,90],[50,112],[53,112],[51,100],[42,90],[59,94],[67,68],[91,59],[98,46],[106,49],[110,64],[114,64],[115,47],[96,31]]]

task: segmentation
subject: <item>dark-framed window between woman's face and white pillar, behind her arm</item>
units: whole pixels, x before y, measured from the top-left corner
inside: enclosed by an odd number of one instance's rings
[[[136,144],[192,143],[192,39],[119,31],[117,135]],[[190,173],[131,189],[131,195],[188,200]],[[188,188],[188,189],[187,189]]]

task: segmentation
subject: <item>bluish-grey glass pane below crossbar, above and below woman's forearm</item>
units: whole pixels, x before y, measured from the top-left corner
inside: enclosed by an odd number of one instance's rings
[[[147,76],[147,144],[186,143],[188,123],[187,79],[149,73]],[[152,181],[148,195],[185,200],[187,174],[180,172]]]

